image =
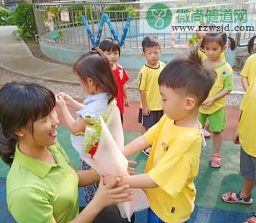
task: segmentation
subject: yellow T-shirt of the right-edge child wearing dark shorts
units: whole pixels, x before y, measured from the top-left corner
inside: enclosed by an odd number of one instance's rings
[[[256,158],[256,78],[243,98],[240,106],[243,113],[238,125],[239,141],[243,150]]]

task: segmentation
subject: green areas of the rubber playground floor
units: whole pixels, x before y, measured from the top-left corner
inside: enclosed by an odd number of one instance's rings
[[[140,133],[125,132],[125,143],[130,142],[138,136],[140,136]],[[79,168],[79,156],[71,146],[69,131],[66,127],[58,127],[58,142],[64,147],[75,167]],[[227,205],[220,199],[221,194],[226,193],[228,190],[238,191],[241,189],[242,177],[239,174],[239,146],[234,145],[232,142],[223,142],[221,146],[223,167],[220,169],[213,169],[209,166],[211,148],[212,141],[207,140],[207,146],[202,149],[199,175],[195,181],[197,191],[196,205],[203,208],[243,213],[252,212],[254,206]],[[144,153],[138,153],[130,159],[137,161],[135,174],[142,173],[147,156]],[[0,177],[6,177],[8,169],[8,166],[0,161]],[[256,200],[255,195],[253,195],[253,198]]]

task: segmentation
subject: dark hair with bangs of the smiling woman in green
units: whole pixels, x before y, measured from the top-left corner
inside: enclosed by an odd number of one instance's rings
[[[55,96],[47,87],[36,83],[12,82],[0,89],[0,156],[11,165],[18,137],[17,128],[46,117],[55,106]]]

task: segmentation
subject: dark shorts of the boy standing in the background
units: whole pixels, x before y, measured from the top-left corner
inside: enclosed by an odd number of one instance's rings
[[[140,108],[140,111],[138,112],[138,123],[141,123],[144,127],[150,128],[158,121],[160,118],[164,115],[164,111],[150,111],[150,115],[144,116],[142,109]]]

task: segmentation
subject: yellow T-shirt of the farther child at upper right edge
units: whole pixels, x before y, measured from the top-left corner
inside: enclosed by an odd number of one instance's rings
[[[256,54],[252,54],[246,59],[241,75],[248,78],[249,86],[251,86],[256,77]]]

